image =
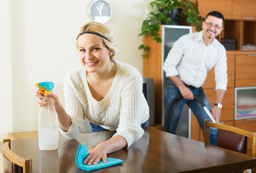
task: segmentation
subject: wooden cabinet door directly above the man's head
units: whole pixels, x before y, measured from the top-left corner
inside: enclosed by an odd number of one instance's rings
[[[206,17],[209,12],[216,10],[221,12],[225,19],[231,19],[232,0],[198,0],[198,10],[202,17]]]

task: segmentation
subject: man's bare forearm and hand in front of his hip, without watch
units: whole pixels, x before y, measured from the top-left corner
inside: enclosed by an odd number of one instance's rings
[[[169,76],[172,82],[179,88],[179,91],[182,93],[184,99],[194,99],[193,93],[187,86],[184,85],[181,79],[178,76]]]

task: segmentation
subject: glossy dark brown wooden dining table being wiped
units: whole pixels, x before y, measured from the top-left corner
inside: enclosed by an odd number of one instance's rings
[[[36,172],[85,172],[75,163],[81,143],[92,148],[113,136],[115,131],[81,133],[76,139],[59,136],[59,147],[54,151],[40,151],[38,138],[12,140],[16,154],[32,158]],[[2,153],[1,146],[0,152]],[[206,145],[189,138],[176,136],[154,128],[145,133],[129,148],[123,148],[108,157],[122,159],[123,163],[93,172],[234,172],[256,167],[256,158],[217,146]]]

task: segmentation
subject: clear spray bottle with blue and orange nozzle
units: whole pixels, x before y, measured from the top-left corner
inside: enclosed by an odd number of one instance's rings
[[[59,123],[58,115],[55,111],[54,102],[47,93],[51,93],[54,83],[51,81],[35,84],[40,87],[39,93],[43,93],[46,102],[39,108],[38,117],[38,145],[40,150],[54,150],[58,148],[59,143]]]

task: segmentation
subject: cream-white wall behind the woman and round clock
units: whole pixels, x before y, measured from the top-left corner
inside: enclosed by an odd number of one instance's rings
[[[116,59],[142,74],[142,51],[137,50],[142,37],[137,35],[150,1],[106,1],[112,9],[106,25],[119,47]],[[64,76],[80,64],[75,39],[80,27],[92,21],[88,14],[92,2],[0,0],[0,46],[4,50],[0,54],[0,135],[37,129],[35,83],[53,81],[53,92],[64,105]]]

